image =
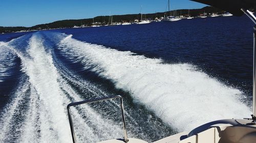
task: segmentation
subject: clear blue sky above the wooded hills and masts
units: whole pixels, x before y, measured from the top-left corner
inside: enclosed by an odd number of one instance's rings
[[[63,19],[100,15],[164,12],[167,0],[4,0],[0,2],[0,26],[33,26]],[[197,9],[206,5],[170,0],[171,9]]]

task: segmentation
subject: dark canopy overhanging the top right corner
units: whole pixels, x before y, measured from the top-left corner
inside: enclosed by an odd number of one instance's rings
[[[236,16],[242,16],[242,8],[256,8],[256,0],[190,0],[198,3],[213,6],[224,11],[227,11]]]

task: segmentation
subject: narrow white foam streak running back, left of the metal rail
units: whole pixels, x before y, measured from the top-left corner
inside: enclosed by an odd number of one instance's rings
[[[41,142],[71,142],[69,122],[58,85],[58,73],[51,55],[45,51],[40,35],[34,34],[29,41],[29,56],[19,53],[22,70],[40,96]],[[57,133],[57,134],[56,134]],[[54,140],[55,138],[55,140]]]

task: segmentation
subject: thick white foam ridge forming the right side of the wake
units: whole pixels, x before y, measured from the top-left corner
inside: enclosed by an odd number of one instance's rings
[[[64,38],[59,48],[74,62],[112,80],[158,117],[179,131],[226,119],[245,118],[250,108],[242,92],[227,87],[189,64],[161,64],[160,59],[133,55],[101,45]]]

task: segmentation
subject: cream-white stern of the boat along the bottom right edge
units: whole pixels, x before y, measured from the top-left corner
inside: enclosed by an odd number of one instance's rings
[[[174,134],[153,143],[234,143],[243,142],[251,143],[256,140],[256,125],[252,120],[247,119],[227,119],[209,122],[194,130]],[[123,140],[112,139],[100,143],[121,143]],[[129,142],[146,143],[141,139],[129,138]]]

